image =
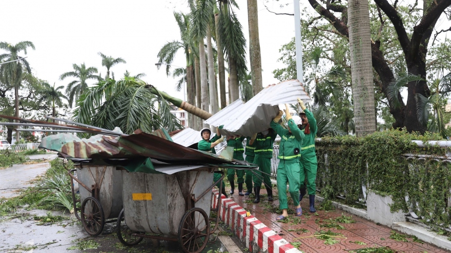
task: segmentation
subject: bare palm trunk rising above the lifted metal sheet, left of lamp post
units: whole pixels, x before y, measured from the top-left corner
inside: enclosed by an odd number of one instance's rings
[[[248,24],[252,86],[254,87],[254,95],[257,95],[263,89],[263,80],[261,77],[260,39],[258,35],[257,0],[248,0]]]

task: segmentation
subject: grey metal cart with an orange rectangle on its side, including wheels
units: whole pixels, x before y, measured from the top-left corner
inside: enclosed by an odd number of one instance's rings
[[[215,169],[200,167],[173,174],[122,171],[124,209],[117,219],[119,241],[132,246],[146,237],[179,242],[187,253],[201,252],[219,222],[219,215],[210,218],[210,211],[218,213],[221,199],[219,195],[213,209],[211,190],[216,185],[221,189],[224,177],[219,171],[222,177],[213,182]],[[212,231],[210,221],[215,222]]]

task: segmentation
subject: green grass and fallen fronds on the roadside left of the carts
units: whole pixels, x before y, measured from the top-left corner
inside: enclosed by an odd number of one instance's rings
[[[64,165],[63,159],[54,159],[50,162],[50,169],[35,180],[33,187],[16,197],[0,198],[0,216],[16,212],[26,205],[28,210],[71,210],[70,177],[65,166],[72,168],[72,162]]]

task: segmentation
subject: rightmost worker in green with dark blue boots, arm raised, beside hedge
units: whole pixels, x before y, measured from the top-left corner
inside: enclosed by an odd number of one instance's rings
[[[304,102],[298,98],[299,106],[302,111],[300,114],[302,119],[302,132],[305,135],[304,142],[302,143],[301,148],[301,159],[300,159],[300,167],[301,170],[304,171],[305,176],[307,177],[307,187],[305,188],[304,180],[301,178],[301,187],[299,189],[299,202],[305,195],[305,190],[307,189],[309,192],[309,200],[310,200],[310,212],[315,213],[315,194],[316,194],[316,170],[318,168],[318,161],[316,159],[316,150],[315,150],[315,137],[316,132],[318,131],[318,126],[316,125],[316,120],[313,117],[313,113],[307,109],[304,105]]]

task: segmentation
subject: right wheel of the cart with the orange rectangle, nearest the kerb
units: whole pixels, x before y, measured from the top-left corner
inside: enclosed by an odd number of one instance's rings
[[[193,208],[183,215],[178,226],[178,241],[187,253],[198,253],[207,246],[210,221],[207,213]]]

